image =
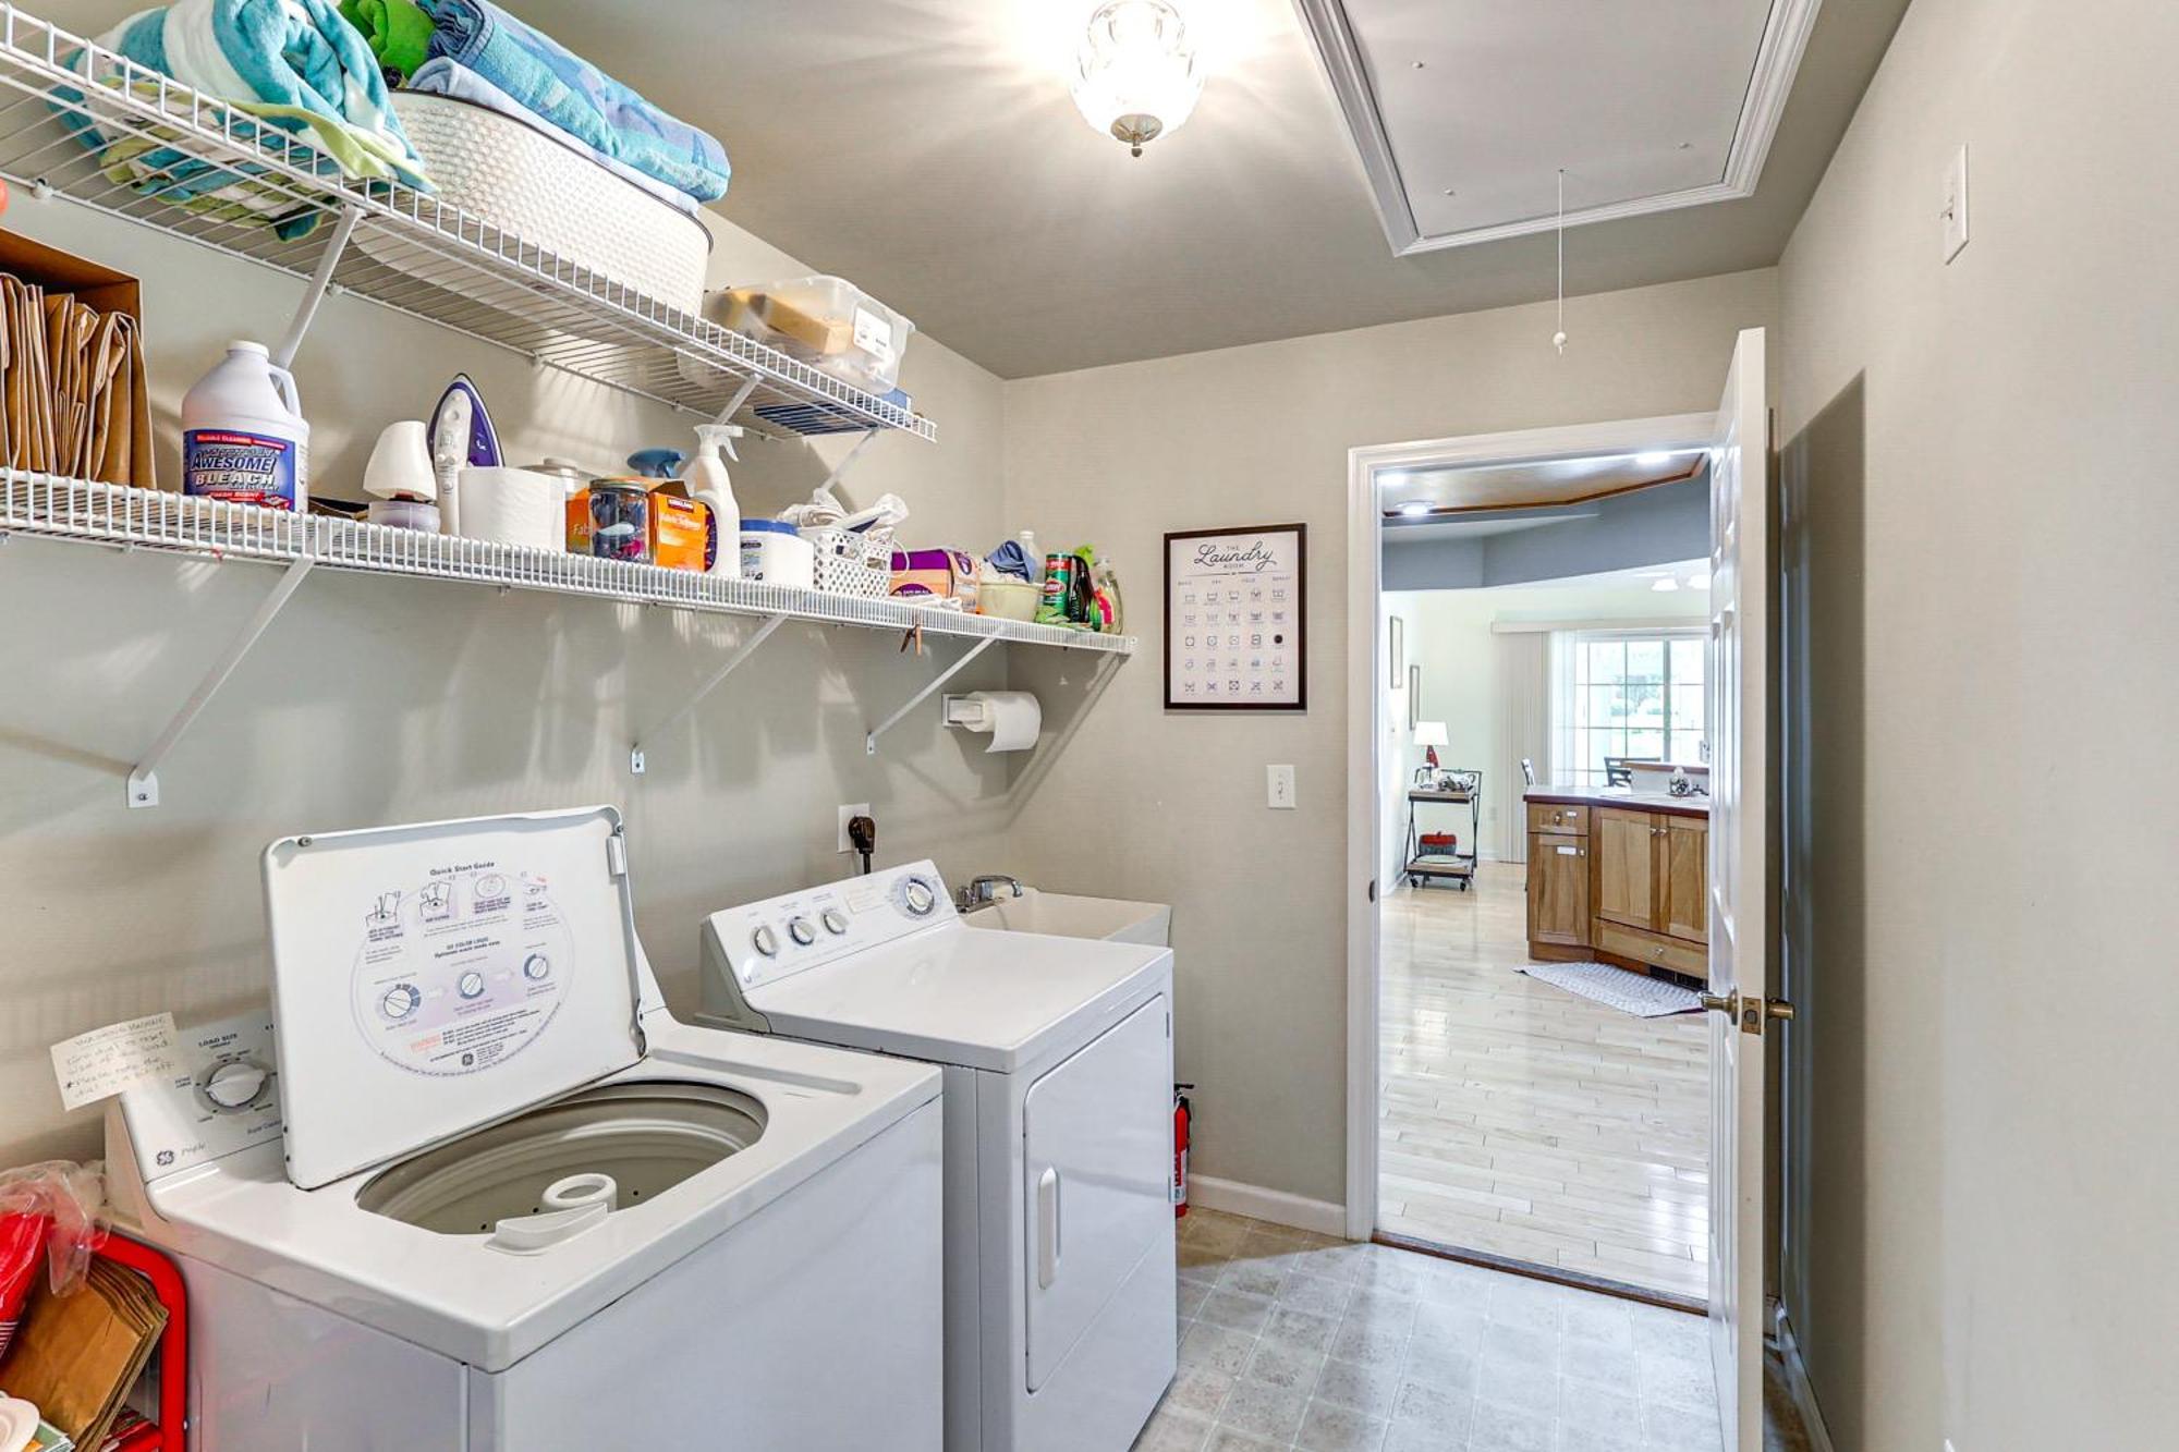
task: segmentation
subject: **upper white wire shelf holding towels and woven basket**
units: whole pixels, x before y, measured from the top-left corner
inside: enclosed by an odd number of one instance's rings
[[[78,52],[89,59],[78,61]],[[72,68],[76,61],[78,68]],[[115,179],[76,135],[142,144]],[[238,222],[185,205],[203,166],[235,168],[294,227]],[[937,425],[750,338],[564,262],[460,207],[403,185],[344,177],[307,137],[259,124],[211,96],[0,2],[0,177],[31,196],[65,196],[109,216],[309,279],[336,227],[333,288],[499,344],[538,364],[758,429],[845,434]],[[17,201],[17,205],[24,205]],[[388,259],[399,262],[390,266]]]

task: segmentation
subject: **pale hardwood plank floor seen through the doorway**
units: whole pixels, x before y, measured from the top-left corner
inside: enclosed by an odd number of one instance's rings
[[[1525,874],[1384,903],[1386,1234],[1702,1297],[1708,1036],[1538,983]]]

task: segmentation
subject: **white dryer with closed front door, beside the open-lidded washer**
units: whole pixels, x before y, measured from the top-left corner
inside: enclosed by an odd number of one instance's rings
[[[946,1068],[946,1448],[1127,1452],[1174,1371],[1172,951],[972,931],[928,861],[702,942],[706,1023]]]

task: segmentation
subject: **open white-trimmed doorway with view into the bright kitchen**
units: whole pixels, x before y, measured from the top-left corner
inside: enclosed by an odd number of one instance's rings
[[[1669,881],[1647,804],[1678,785],[1697,824],[1706,800],[1713,432],[1358,456],[1384,665],[1355,1230],[1689,1308],[1711,1278],[1704,944],[1663,931],[1656,874],[1615,870],[1608,900],[1595,876],[1606,846],[1634,861],[1636,824]]]

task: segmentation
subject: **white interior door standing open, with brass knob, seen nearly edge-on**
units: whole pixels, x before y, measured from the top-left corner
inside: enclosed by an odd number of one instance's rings
[[[1769,1027],[1769,408],[1763,329],[1711,445],[1711,1354],[1726,1452],[1763,1452],[1763,1036]]]

